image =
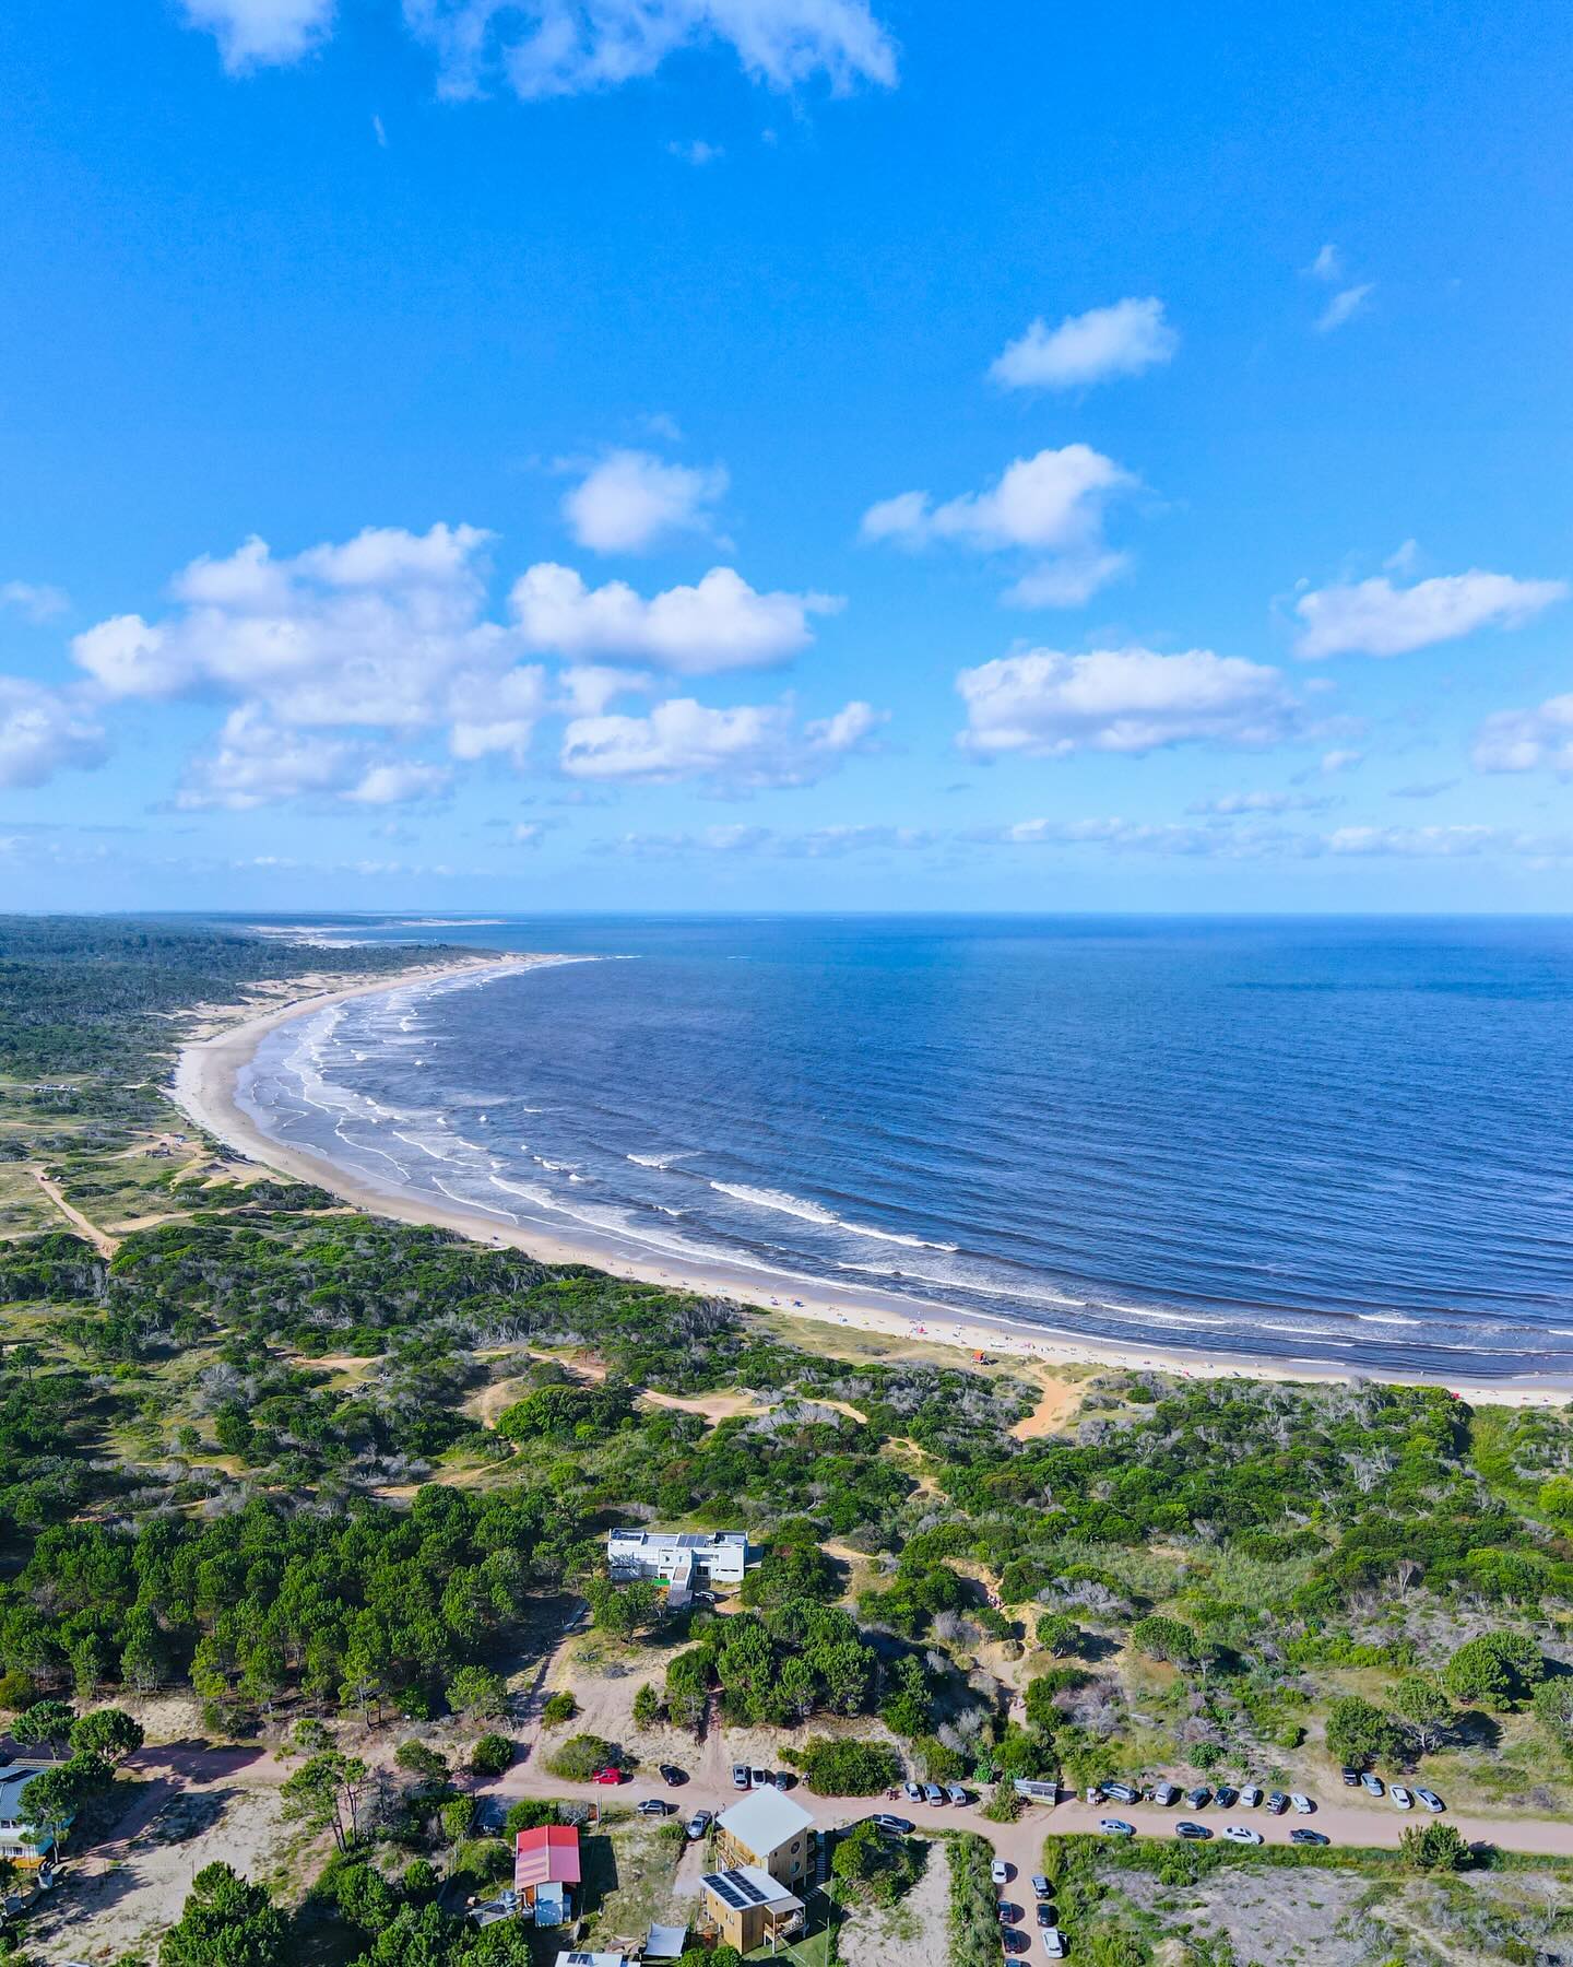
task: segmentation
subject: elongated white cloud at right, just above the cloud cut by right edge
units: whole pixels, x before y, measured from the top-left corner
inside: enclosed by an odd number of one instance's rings
[[[1304,627],[1296,655],[1406,655],[1477,627],[1522,627],[1567,596],[1565,580],[1512,574],[1439,574],[1396,588],[1386,578],[1313,588],[1294,604]]]

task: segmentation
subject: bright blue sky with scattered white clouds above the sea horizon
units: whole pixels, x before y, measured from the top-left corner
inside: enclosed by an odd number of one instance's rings
[[[18,10],[0,893],[1565,909],[1571,43]]]

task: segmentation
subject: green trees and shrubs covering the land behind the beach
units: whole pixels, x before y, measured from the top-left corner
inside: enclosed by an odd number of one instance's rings
[[[43,1001],[87,934],[8,942],[4,989]],[[106,930],[126,1019],[67,995],[71,1035],[39,1017],[0,1086],[10,1159],[47,1137],[87,1222],[0,1239],[0,1705],[18,1739],[55,1723],[83,1798],[132,1753],[122,1709],[163,1698],[208,1739],[295,1753],[289,1806],[362,1875],[334,1859],[285,1906],[328,1922],[332,1957],[511,1957],[460,1937],[427,1873],[499,1877],[452,1768],[507,1766],[519,1676],[574,1609],[639,1696],[606,1733],[568,1731],[554,1696],[562,1780],[637,1766],[718,1707],[775,1731],[824,1796],[1144,1772],[1325,1792],[1349,1762],[1477,1810],[1573,1810],[1563,1412],[1107,1369],[1042,1434],[1026,1363],[873,1357],[834,1330],[816,1349],[722,1300],[344,1212],[201,1141],[185,1182],[144,1192],[157,1220],[94,1239],[114,1157],[185,1131],[155,1092],[181,991],[287,974],[285,946],[203,934],[171,954],[181,934]],[[61,1074],[63,1103],[18,1070]],[[140,1103],[116,1103],[130,1084]],[[743,1609],[667,1615],[613,1583],[621,1522],[745,1526],[763,1560]],[[415,1739],[433,1729],[440,1753]],[[1382,1888],[1449,1890],[1457,1851],[1433,1829]],[[1135,1963],[1166,1892],[1253,1857],[1162,1847],[1154,1875],[1135,1851],[1054,1849],[1085,1957]],[[956,1959],[983,1951],[973,1859],[950,1845]],[[879,1867],[863,1884],[899,1896]],[[163,1957],[212,1957],[224,1908],[248,1957],[295,1957],[258,1890],[199,1873]]]

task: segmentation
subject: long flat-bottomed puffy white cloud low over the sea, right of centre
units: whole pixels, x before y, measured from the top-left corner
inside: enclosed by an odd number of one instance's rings
[[[961,744],[979,757],[1268,745],[1294,722],[1276,669],[1209,649],[1030,649],[963,669],[956,688],[967,706]]]

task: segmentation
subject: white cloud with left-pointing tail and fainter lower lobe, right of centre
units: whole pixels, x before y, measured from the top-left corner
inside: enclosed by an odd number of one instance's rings
[[[1087,445],[1017,458],[987,492],[934,506],[928,492],[899,492],[863,513],[863,539],[918,551],[954,541],[975,553],[1028,551],[1056,559],[1028,568],[1005,600],[1020,608],[1079,606],[1119,574],[1127,559],[1103,545],[1109,500],[1136,484],[1131,472]]]

